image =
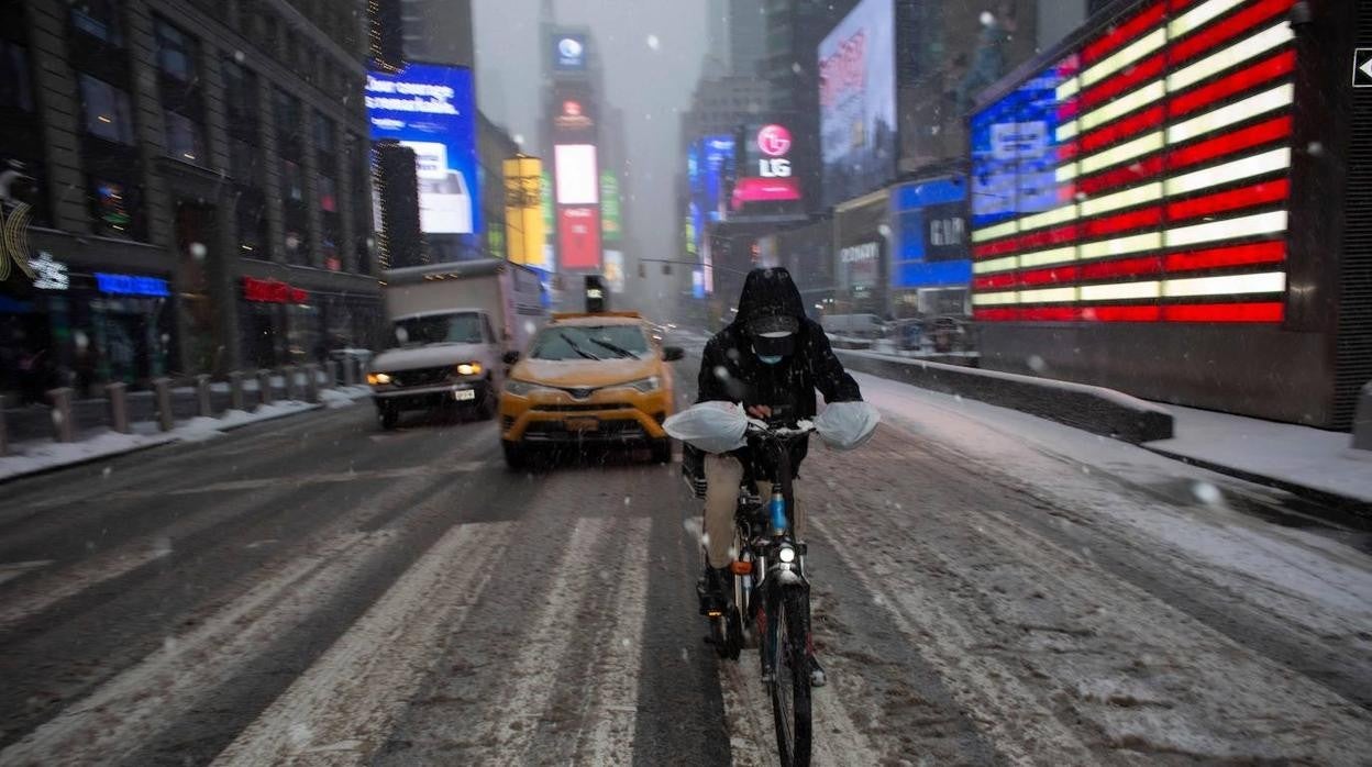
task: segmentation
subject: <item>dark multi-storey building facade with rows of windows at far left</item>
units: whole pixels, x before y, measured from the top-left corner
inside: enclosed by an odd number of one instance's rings
[[[365,14],[353,5],[3,5],[0,159],[27,189],[5,214],[32,206],[27,252],[7,255],[52,279],[0,283],[0,386],[139,386],[370,340]],[[21,368],[41,372],[11,375]]]

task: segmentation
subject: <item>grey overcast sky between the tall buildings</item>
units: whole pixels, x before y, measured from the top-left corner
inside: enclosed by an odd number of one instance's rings
[[[473,0],[477,100],[534,148],[541,111],[539,0]],[[679,111],[705,52],[701,0],[556,0],[558,23],[589,25],[605,64],[606,100],[624,111],[634,178],[630,228],[646,258],[672,258],[672,181]]]

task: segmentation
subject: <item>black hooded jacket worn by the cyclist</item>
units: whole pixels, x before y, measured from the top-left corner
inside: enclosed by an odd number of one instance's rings
[[[748,324],[757,317],[785,314],[800,320],[796,350],[777,365],[757,359]],[[753,269],[738,298],[738,317],[709,339],[701,358],[696,402],[735,402],[745,408],[778,408],[788,420],[814,417],[818,412],[815,390],[825,402],[858,402],[858,381],[844,370],[829,346],[825,329],[805,317],[800,288],[785,269]],[[804,442],[796,445],[793,467],[805,457]],[[742,457],[748,457],[744,451]]]

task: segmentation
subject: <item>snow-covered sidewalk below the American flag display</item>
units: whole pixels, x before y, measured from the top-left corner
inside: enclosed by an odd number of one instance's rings
[[[1176,436],[1150,450],[1206,468],[1372,504],[1372,451],[1347,434],[1168,405]]]

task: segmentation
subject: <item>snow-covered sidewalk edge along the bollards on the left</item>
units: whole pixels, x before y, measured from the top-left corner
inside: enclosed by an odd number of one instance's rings
[[[10,456],[0,456],[0,482],[110,458],[170,442],[204,442],[222,436],[226,431],[262,421],[295,416],[320,408],[344,408],[370,395],[372,391],[364,386],[328,388],[320,391],[320,405],[281,401],[258,406],[251,413],[244,410],[225,410],[217,418],[178,421],[176,428],[167,432],[158,431],[152,423],[137,423],[132,424],[133,434],[103,431],[80,442],[54,442],[51,439],[21,442],[10,446]]]

